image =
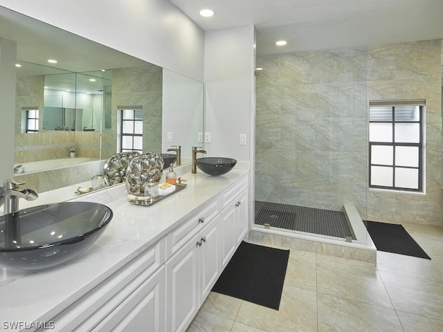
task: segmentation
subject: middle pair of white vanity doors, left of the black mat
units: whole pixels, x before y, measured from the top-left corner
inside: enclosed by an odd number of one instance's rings
[[[165,331],[185,331],[219,277],[219,214],[205,223],[166,261]]]

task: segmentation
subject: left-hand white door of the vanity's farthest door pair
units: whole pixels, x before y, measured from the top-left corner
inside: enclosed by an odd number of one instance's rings
[[[235,202],[230,203],[221,212],[221,233],[223,234],[221,239],[221,271],[228,265],[231,257],[233,257],[236,248],[235,238]]]

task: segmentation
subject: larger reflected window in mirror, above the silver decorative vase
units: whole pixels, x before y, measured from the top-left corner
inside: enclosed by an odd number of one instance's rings
[[[143,153],[143,109],[120,110],[120,152]]]

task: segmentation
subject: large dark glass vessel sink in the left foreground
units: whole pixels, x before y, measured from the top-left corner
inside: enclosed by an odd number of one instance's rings
[[[0,266],[41,270],[89,248],[112,219],[112,210],[90,202],[64,202],[0,216]]]

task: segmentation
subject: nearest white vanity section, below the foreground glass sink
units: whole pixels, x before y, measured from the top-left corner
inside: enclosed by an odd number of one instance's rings
[[[164,331],[164,263],[162,239],[54,317],[55,331]]]

